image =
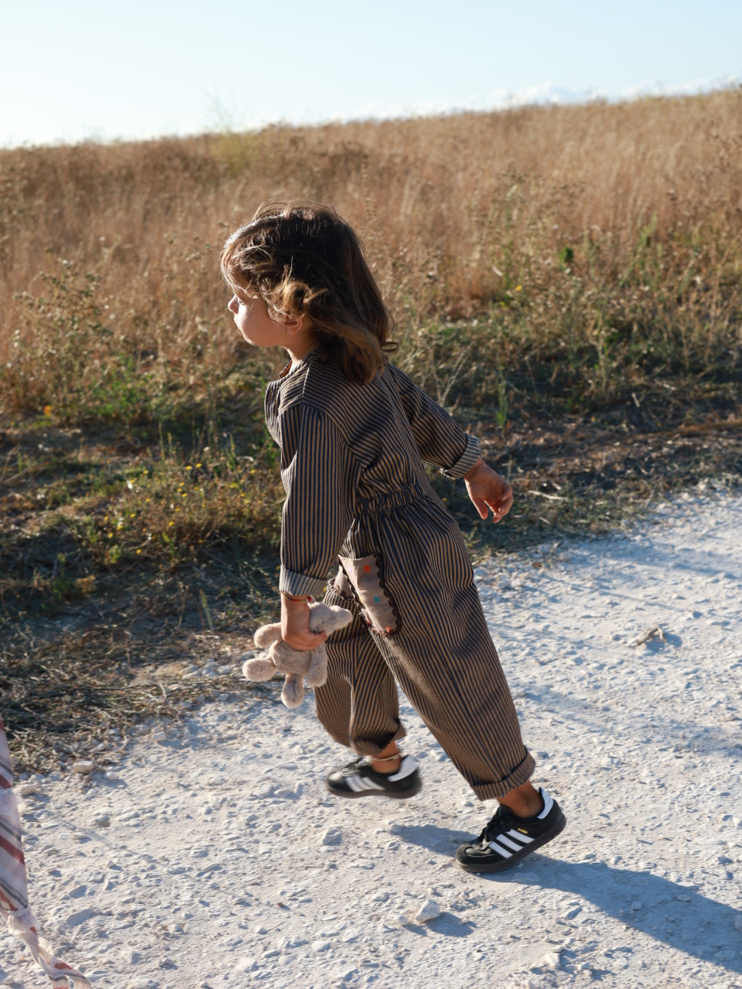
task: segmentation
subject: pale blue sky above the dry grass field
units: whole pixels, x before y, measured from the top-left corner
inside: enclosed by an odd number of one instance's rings
[[[739,0],[0,0],[0,145],[742,81]]]

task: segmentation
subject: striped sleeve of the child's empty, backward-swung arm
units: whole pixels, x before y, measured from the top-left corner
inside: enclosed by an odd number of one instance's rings
[[[477,437],[464,432],[452,415],[394,364],[387,364],[384,374],[394,383],[422,460],[435,464],[447,478],[462,478],[480,457]]]

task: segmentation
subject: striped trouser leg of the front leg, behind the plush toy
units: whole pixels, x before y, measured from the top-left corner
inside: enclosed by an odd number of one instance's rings
[[[404,738],[397,684],[358,609],[333,590],[325,604],[353,612],[353,621],[327,640],[327,680],[315,688],[317,715],[332,738],[359,755],[377,756]]]

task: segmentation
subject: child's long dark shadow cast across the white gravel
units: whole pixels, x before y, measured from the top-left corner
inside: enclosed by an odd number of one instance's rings
[[[396,825],[392,830],[404,842],[443,854],[451,854],[456,845],[471,838],[470,833],[430,824]],[[478,878],[573,893],[656,941],[728,971],[742,972],[738,933],[742,911],[651,872],[613,868],[602,861],[568,862],[535,853],[522,866],[483,873]]]

